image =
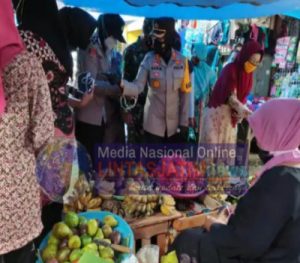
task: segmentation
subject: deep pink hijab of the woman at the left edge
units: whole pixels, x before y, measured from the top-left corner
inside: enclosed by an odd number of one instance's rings
[[[24,49],[22,40],[14,23],[11,0],[0,1],[0,116],[5,110],[5,94],[2,71],[10,61]]]

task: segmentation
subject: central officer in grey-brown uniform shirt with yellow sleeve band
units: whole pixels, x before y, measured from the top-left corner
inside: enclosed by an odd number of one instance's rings
[[[179,142],[179,129],[186,131],[188,127],[188,63],[172,48],[175,32],[174,19],[155,19],[153,51],[145,56],[133,82],[122,80],[125,96],[137,97],[148,84],[143,121],[145,143]]]

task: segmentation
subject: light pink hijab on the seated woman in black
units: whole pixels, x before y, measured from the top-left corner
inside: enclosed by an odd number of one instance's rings
[[[259,177],[275,166],[300,164],[300,100],[270,100],[248,121],[258,146],[274,156],[263,166]]]

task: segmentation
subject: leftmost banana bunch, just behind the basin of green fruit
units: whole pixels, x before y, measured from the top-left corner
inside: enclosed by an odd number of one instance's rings
[[[91,192],[69,198],[69,203],[65,205],[65,211],[83,212],[87,210],[100,210],[102,199],[93,197]]]

